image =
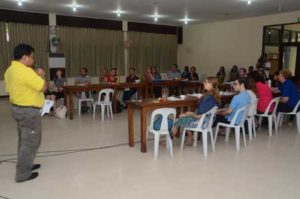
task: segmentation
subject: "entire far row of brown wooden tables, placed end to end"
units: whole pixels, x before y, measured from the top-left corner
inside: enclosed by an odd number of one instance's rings
[[[181,80],[159,80],[152,82],[141,83],[101,83],[101,84],[88,84],[88,85],[68,85],[64,86],[64,105],[67,106],[68,116],[70,120],[74,117],[74,97],[76,93],[86,91],[100,91],[105,88],[114,89],[113,108],[117,110],[117,92],[118,90],[124,90],[126,88],[136,88],[138,94],[147,99],[148,96],[153,97],[153,90],[155,87],[172,87],[178,88],[179,94],[184,87],[192,87],[194,92],[201,92],[203,90],[203,83],[200,81],[181,81]],[[172,92],[172,90],[171,90]]]

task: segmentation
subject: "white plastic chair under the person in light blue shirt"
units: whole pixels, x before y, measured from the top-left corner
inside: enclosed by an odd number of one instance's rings
[[[248,111],[248,105],[244,106],[242,108],[239,108],[235,115],[233,116],[231,122],[229,124],[226,123],[218,123],[217,124],[217,128],[216,128],[216,134],[215,134],[215,144],[217,142],[217,138],[218,138],[218,133],[219,133],[219,128],[220,126],[226,127],[226,136],[225,136],[225,141],[229,140],[229,134],[230,134],[230,128],[234,128],[235,131],[235,146],[236,146],[236,150],[239,151],[240,150],[240,129],[242,129],[242,133],[243,133],[243,140],[244,140],[244,146],[246,147],[246,135],[245,135],[245,119],[246,119],[246,115],[247,115],[247,111]],[[237,119],[238,116],[242,114],[241,117],[241,121],[239,124],[237,123]]]

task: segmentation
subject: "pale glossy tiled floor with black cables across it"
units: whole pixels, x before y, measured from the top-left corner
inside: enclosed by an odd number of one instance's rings
[[[139,115],[135,115],[139,131]],[[283,126],[269,137],[261,129],[246,148],[235,151],[234,136],[229,142],[218,139],[216,152],[204,158],[197,148],[179,149],[174,158],[161,147],[159,159],[140,145],[127,145],[127,112],[101,122],[91,114],[69,119],[43,118],[43,138],[36,162],[40,176],[15,183],[15,164],[0,164],[0,198],[82,199],[82,198],[295,198],[300,197],[300,135],[295,124]],[[137,133],[136,139],[139,140]],[[107,147],[106,146],[112,146]],[[96,149],[98,148],[98,149]],[[16,124],[7,99],[0,99],[0,159],[15,158]],[[91,149],[76,151],[77,149]],[[65,152],[58,152],[70,150]],[[69,153],[67,153],[69,152]]]

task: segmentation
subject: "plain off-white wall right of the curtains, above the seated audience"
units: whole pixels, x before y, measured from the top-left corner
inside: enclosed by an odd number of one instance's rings
[[[178,64],[195,65],[201,74],[215,75],[224,65],[228,74],[233,64],[256,64],[262,50],[263,26],[297,22],[296,12],[239,20],[188,25],[178,47]]]

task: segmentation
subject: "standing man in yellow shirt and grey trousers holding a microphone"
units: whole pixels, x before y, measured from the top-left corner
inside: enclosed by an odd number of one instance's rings
[[[18,127],[18,159],[16,182],[38,177],[32,172],[41,167],[33,164],[41,142],[42,124],[40,109],[44,105],[46,90],[45,72],[33,69],[34,49],[27,44],[14,48],[14,60],[4,73],[5,88],[12,104],[12,115]]]

